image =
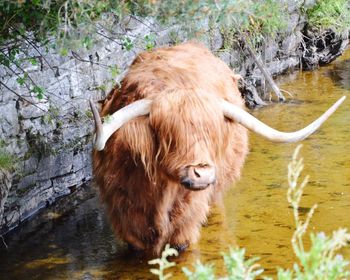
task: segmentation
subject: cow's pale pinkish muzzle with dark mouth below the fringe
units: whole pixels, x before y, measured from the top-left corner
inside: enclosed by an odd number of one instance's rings
[[[191,191],[204,190],[216,182],[215,168],[210,165],[190,165],[181,173],[181,184]]]

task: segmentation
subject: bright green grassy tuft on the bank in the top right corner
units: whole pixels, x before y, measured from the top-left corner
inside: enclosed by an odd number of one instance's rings
[[[318,29],[333,28],[342,31],[350,27],[348,0],[318,0],[306,13],[309,24]]]

